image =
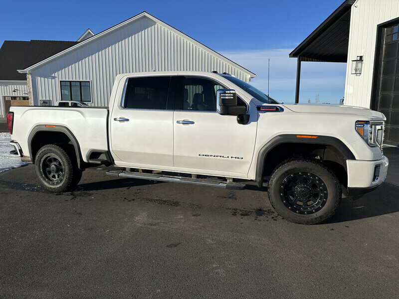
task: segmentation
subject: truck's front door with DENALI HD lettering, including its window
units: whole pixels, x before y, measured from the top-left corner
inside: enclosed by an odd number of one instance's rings
[[[246,177],[256,122],[239,125],[235,116],[219,115],[216,91],[225,87],[213,80],[187,76],[180,86],[183,88],[178,89],[177,101],[181,99],[183,104],[177,107],[173,119],[174,165],[193,172],[235,172]]]

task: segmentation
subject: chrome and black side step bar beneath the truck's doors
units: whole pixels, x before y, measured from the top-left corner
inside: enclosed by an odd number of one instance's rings
[[[228,182],[228,181],[220,181],[220,180],[212,180],[212,179],[201,179],[201,178],[191,178],[191,177],[164,175],[164,174],[130,172],[130,171],[122,171],[122,170],[110,170],[110,171],[107,171],[106,174],[111,175],[111,176],[117,176],[117,177],[131,177],[131,178],[140,178],[140,179],[156,180],[156,181],[167,181],[167,182],[194,184],[194,185],[222,187],[225,189],[232,189],[232,190],[245,189],[245,184]]]

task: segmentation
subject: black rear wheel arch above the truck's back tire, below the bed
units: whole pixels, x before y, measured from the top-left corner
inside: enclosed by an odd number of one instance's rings
[[[45,142],[40,142],[39,137],[47,137],[47,138],[51,137],[52,140],[51,142],[49,140]],[[82,169],[84,161],[76,137],[68,128],[66,128],[65,126],[58,126],[58,125],[55,127],[47,127],[46,125],[37,125],[30,131],[28,136],[28,149],[29,149],[30,160],[32,161],[32,163],[34,163],[37,151],[42,146],[57,142],[61,144],[71,144],[71,146],[73,146],[73,152],[76,155],[76,162],[78,168]]]

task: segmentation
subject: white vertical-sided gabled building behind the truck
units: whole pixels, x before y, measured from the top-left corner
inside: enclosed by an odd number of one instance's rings
[[[256,76],[147,12],[20,70],[31,76],[34,105],[53,105],[61,93],[79,98],[80,88],[80,100],[93,106],[108,105],[118,74],[151,71],[227,72],[246,82]]]

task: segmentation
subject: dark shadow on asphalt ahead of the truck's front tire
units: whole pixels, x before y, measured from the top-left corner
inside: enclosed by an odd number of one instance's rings
[[[399,212],[399,186],[385,182],[360,199],[343,198],[335,215],[325,223],[338,223]]]

